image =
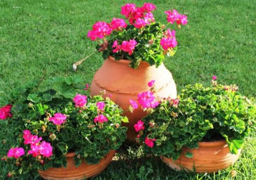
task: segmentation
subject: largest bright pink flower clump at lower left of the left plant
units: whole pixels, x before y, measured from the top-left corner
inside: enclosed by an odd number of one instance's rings
[[[53,147],[49,142],[42,141],[42,137],[31,134],[29,130],[23,131],[24,144],[30,144],[31,150],[28,154],[32,154],[33,157],[42,155],[43,157],[49,158],[53,154]]]

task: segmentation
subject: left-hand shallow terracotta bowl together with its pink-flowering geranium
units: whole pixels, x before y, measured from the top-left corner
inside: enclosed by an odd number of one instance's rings
[[[128,119],[114,102],[78,94],[89,94],[81,90],[80,78],[54,82],[45,91],[36,83],[15,89],[0,109],[17,139],[2,158],[14,164],[8,177],[27,172],[55,180],[91,177],[107,167],[125,140],[127,128],[120,125]]]

